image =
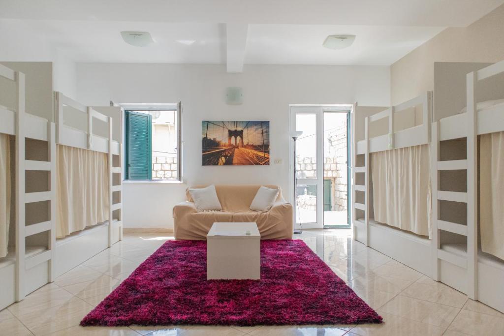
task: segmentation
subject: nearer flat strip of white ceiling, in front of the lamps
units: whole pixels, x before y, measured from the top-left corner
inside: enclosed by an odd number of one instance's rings
[[[467,26],[502,0],[2,0],[11,19]]]

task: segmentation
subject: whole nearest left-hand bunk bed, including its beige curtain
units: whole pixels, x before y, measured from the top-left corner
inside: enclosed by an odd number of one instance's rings
[[[6,165],[14,167],[10,176],[5,176],[9,181],[15,181],[15,197],[10,197],[11,190],[6,185],[6,199],[15,205],[11,214],[0,216],[4,223],[0,225],[15,226],[15,239],[10,241],[5,256],[0,258],[0,309],[7,307],[15,301],[21,301],[27,294],[37,288],[52,282],[55,278],[55,126],[53,122],[41,117],[25,112],[25,75],[19,71],[14,71],[7,66],[0,64],[0,77],[3,88],[14,86],[15,101],[0,106],[0,136],[9,137],[6,142],[15,139],[15,145],[3,146],[4,157],[9,157],[11,161]],[[46,146],[35,155],[34,149],[25,145],[31,141],[43,142]],[[10,148],[14,148],[14,153],[9,153]],[[45,153],[41,153],[45,152]],[[45,155],[44,155],[45,154]],[[44,157],[45,160],[33,158]],[[9,171],[9,166],[3,172]],[[26,179],[31,178],[30,172],[42,172],[45,178],[42,181],[48,183],[42,189],[33,191],[32,183],[26,183]],[[8,173],[7,173],[8,174]],[[36,183],[34,183],[36,184]],[[43,191],[41,191],[43,190]],[[45,203],[44,203],[45,202]],[[8,202],[9,203],[9,202]],[[37,210],[32,210],[32,205],[38,204]],[[9,211],[9,204],[4,205],[4,211]],[[45,208],[45,209],[44,209]],[[26,209],[26,210],[25,210]],[[46,215],[44,219],[37,219],[38,215]],[[35,216],[34,216],[35,215]],[[15,218],[14,221],[9,221]],[[14,223],[13,223],[14,222]],[[8,229],[3,230],[4,235],[0,239],[8,239]],[[42,242],[41,245],[34,245],[34,242]]]

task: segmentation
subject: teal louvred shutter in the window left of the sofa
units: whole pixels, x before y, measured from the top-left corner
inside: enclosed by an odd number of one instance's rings
[[[137,111],[126,113],[126,179],[152,179],[152,116]]]

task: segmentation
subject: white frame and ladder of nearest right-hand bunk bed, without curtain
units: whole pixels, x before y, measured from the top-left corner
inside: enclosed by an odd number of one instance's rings
[[[504,312],[502,284],[504,283],[504,262],[478,260],[478,177],[477,177],[477,136],[504,131],[504,105],[478,111],[476,87],[480,81],[504,73],[504,61],[492,64],[467,75],[467,112],[442,118],[432,123],[432,278],[442,281],[469,298],[479,300]],[[441,141],[466,138],[467,159],[439,161]],[[439,171],[466,170],[467,191],[439,190]],[[467,204],[467,226],[439,220],[439,200],[449,200]],[[467,251],[456,253],[444,249],[440,244],[440,231],[448,231],[467,237]],[[479,267],[478,267],[479,265]]]

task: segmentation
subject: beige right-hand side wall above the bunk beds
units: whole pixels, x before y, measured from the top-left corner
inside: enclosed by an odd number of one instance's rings
[[[391,102],[434,90],[434,62],[504,59],[504,5],[464,28],[447,28],[391,65]]]

